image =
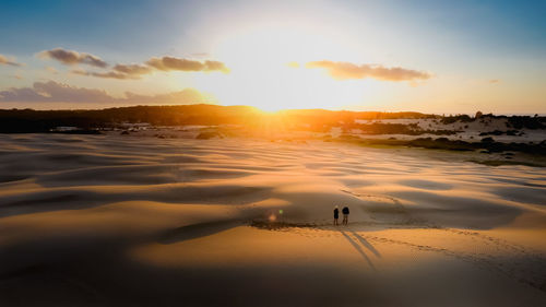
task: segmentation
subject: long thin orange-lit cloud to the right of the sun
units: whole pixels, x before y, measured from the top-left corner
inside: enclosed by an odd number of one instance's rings
[[[330,76],[335,80],[372,78],[384,81],[416,81],[427,80],[432,76],[428,72],[400,67],[385,68],[379,64],[354,64],[328,60],[307,62],[306,68],[325,69]]]

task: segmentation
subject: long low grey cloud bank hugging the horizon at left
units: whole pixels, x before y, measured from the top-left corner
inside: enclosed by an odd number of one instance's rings
[[[110,96],[103,90],[70,86],[55,81],[35,82],[32,87],[12,87],[0,92],[4,103],[87,103],[109,105],[180,105],[213,101],[193,88],[159,95],[126,93],[124,97]]]

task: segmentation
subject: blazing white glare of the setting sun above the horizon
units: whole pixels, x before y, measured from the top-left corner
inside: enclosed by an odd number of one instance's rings
[[[197,75],[194,83],[222,105],[250,105],[266,111],[336,108],[361,101],[361,84],[331,80],[305,69],[305,62],[343,58],[344,52],[334,38],[312,31],[275,25],[234,32],[214,51],[230,73]]]

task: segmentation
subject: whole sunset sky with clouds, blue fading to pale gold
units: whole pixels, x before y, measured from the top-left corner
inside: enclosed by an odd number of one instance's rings
[[[0,108],[546,114],[546,1],[11,1]]]

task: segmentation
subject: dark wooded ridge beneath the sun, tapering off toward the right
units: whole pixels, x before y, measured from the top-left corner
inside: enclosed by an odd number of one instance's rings
[[[0,109],[0,132],[47,132],[57,127],[82,130],[112,128],[122,122],[149,122],[153,126],[282,123],[283,128],[308,125],[321,130],[354,119],[426,118],[419,113],[331,111],[322,109],[285,110],[264,114],[249,106],[181,105],[134,106],[97,110]]]

